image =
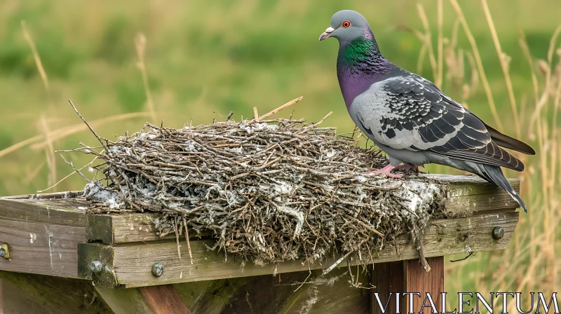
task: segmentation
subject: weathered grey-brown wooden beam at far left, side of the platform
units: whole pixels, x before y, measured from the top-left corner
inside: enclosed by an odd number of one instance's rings
[[[0,259],[0,270],[78,278],[83,210],[58,200],[0,199],[0,219],[0,243],[8,243],[11,253],[10,260]]]

